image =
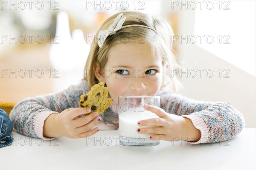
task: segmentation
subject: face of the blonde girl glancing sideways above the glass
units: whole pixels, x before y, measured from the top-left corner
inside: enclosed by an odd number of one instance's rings
[[[118,96],[154,96],[162,83],[162,60],[153,59],[148,43],[118,43],[102,72],[96,65],[96,77],[107,84],[114,103]]]

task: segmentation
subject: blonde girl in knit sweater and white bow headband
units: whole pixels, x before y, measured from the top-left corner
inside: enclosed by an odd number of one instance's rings
[[[51,140],[58,136],[85,138],[99,130],[118,129],[118,96],[161,96],[160,108],[145,110],[160,118],[141,120],[137,133],[151,140],[186,140],[194,144],[232,139],[244,128],[244,118],[224,102],[195,101],[178,95],[180,84],[172,69],[172,28],[140,12],[123,12],[106,20],[96,34],[79,85],[56,94],[19,102],[10,117],[15,130]],[[78,61],[79,62],[79,61]],[[98,82],[109,87],[111,106],[101,115],[79,108],[81,94]],[[25,111],[19,111],[25,105]],[[80,117],[81,116],[81,117]]]

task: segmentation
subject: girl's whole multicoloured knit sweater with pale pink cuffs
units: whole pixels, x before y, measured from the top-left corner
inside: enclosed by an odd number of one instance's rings
[[[66,90],[43,96],[26,98],[17,103],[10,113],[14,129],[26,136],[51,140],[43,136],[44,121],[52,113],[61,113],[67,108],[79,107],[81,94],[88,93],[87,82],[72,85]],[[222,142],[232,139],[245,127],[244,118],[235,108],[224,102],[195,101],[160,89],[160,107],[167,113],[190,119],[201,131],[198,143]],[[101,130],[118,129],[118,113],[108,108],[100,115],[102,121],[96,126]]]

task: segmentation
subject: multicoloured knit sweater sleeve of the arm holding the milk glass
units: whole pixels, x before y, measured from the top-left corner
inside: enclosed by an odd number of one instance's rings
[[[192,144],[222,142],[234,138],[245,127],[244,117],[229,103],[189,99],[160,90],[161,108],[167,113],[190,119],[201,139]]]

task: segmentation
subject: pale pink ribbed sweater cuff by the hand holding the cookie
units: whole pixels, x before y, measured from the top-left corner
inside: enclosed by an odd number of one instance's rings
[[[44,121],[47,119],[48,116],[50,116],[52,113],[57,112],[51,112],[51,111],[43,111],[39,113],[36,118],[34,119],[33,126],[35,128],[35,134],[38,138],[44,139],[46,141],[55,139],[54,138],[47,138],[43,136],[43,127],[44,127]]]

